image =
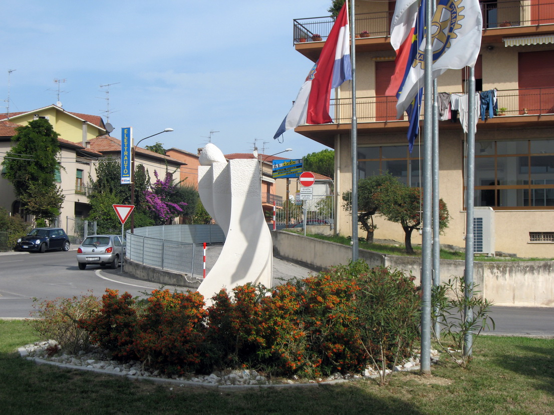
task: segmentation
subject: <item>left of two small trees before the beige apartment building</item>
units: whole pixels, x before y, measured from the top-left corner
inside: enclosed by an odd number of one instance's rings
[[[382,176],[366,177],[358,181],[358,222],[367,232],[366,241],[373,242],[373,233],[377,226],[373,223],[373,215],[379,210],[379,200],[377,194],[382,186],[386,186],[391,181],[398,181],[391,174]],[[342,194],[344,201],[343,207],[348,212],[352,211],[352,191],[345,191]]]

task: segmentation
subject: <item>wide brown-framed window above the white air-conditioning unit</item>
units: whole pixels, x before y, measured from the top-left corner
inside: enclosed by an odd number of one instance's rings
[[[554,209],[554,139],[475,143],[474,204]]]

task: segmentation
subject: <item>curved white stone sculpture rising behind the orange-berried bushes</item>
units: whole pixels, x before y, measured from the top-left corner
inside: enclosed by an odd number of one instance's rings
[[[208,143],[199,162],[200,199],[226,239],[198,292],[209,304],[222,288],[230,290],[248,282],[271,287],[273,242],[261,209],[258,160],[227,163],[219,148]]]

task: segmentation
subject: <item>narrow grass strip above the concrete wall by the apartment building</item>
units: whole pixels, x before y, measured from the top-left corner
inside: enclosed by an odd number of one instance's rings
[[[294,232],[295,231],[289,231]],[[307,234],[306,236],[309,236],[311,238],[321,239],[324,241],[330,241],[330,242],[336,242],[340,243],[341,245],[350,245],[350,238],[347,238],[345,236],[327,236],[327,235],[312,235]],[[366,241],[359,241],[358,246],[361,249],[365,249],[368,251],[383,253],[386,255],[399,255],[399,256],[406,256],[406,257],[420,257],[421,256],[421,247],[420,246],[414,246],[414,253],[408,254],[406,253],[406,247],[404,247],[404,244],[401,245],[387,245],[384,243],[367,243]],[[457,251],[448,251],[448,250],[440,250],[440,259],[442,260],[465,260],[465,253],[464,252],[457,252]],[[485,257],[485,256],[475,256],[475,261],[491,261],[491,262],[514,262],[514,261],[552,261],[554,258],[501,258],[501,257]]]

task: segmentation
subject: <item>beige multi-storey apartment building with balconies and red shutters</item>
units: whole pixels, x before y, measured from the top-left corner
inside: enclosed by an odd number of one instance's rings
[[[455,2],[454,2],[455,3]],[[453,3],[453,4],[454,4]],[[396,120],[396,97],[386,96],[394,70],[389,28],[395,2],[356,2],[356,111],[359,177],[390,172],[420,186],[423,133],[413,152],[407,146],[408,121]],[[459,7],[458,3],[456,7]],[[475,66],[476,89],[494,91],[498,111],[479,119],[475,135],[476,235],[483,251],[521,257],[552,257],[554,246],[554,12],[535,0],[481,2],[483,39]],[[462,13],[463,14],[463,13]],[[316,61],[332,19],[297,19],[295,49]],[[324,35],[310,41],[313,33]],[[304,42],[304,40],[308,40]],[[309,66],[309,64],[306,64]],[[438,78],[438,91],[466,92],[467,70],[449,70]],[[299,85],[300,85],[300,80]],[[334,123],[302,125],[307,138],[335,149],[337,195],[351,189],[350,82],[331,100]],[[422,106],[423,109],[423,106]],[[423,111],[422,111],[423,112]],[[423,117],[423,115],[422,115]],[[439,122],[439,189],[452,219],[441,243],[465,245],[464,165],[466,134],[458,118]],[[336,230],[351,234],[351,216],[336,202]],[[377,216],[377,238],[403,240],[398,224]],[[481,238],[479,240],[479,238]],[[412,237],[420,243],[419,235]]]

